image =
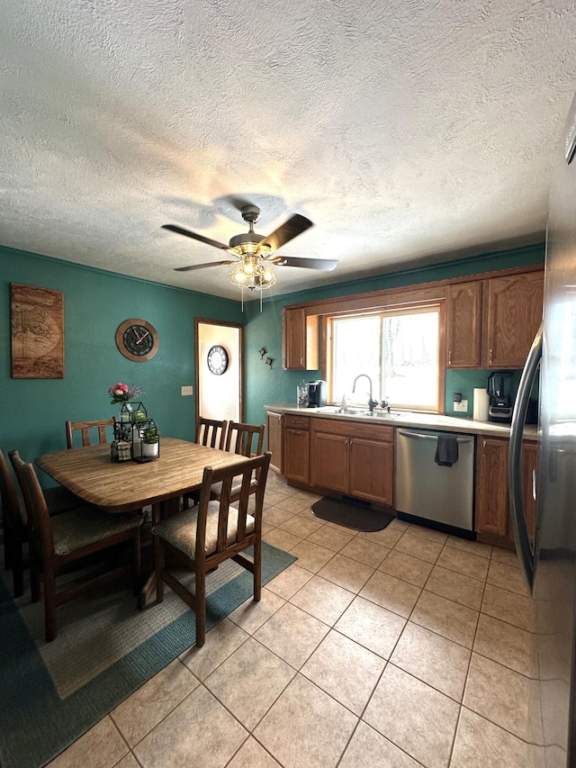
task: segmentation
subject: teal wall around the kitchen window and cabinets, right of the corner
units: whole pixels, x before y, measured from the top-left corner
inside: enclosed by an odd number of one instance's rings
[[[544,243],[527,248],[516,248],[485,254],[480,257],[466,258],[461,261],[439,264],[434,267],[411,269],[391,275],[377,276],[370,279],[356,280],[338,285],[326,285],[294,294],[285,294],[275,298],[265,299],[263,311],[260,313],[259,303],[250,302],[245,305],[247,326],[245,330],[245,359],[247,362],[246,381],[246,418],[253,423],[263,423],[266,403],[296,402],[296,386],[302,382],[320,378],[320,371],[284,371],[282,369],[282,308],[287,304],[312,302],[320,299],[363,294],[384,288],[398,288],[417,283],[430,283],[434,280],[446,280],[454,277],[464,277],[482,272],[512,267],[527,267],[533,264],[543,264],[545,258]],[[278,280],[282,279],[282,270],[276,270]],[[266,357],[272,357],[272,367],[266,366],[261,360],[258,350],[266,348]],[[361,371],[351,371],[351,382]],[[462,416],[473,415],[473,389],[486,385],[490,371],[446,371],[446,414]],[[519,372],[513,379],[518,387]],[[453,393],[462,393],[463,399],[468,400],[468,413],[454,412]]]

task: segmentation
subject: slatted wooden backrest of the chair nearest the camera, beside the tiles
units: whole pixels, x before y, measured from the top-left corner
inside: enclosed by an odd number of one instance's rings
[[[239,464],[213,469],[211,466],[204,468],[202,475],[202,486],[200,489],[200,501],[198,503],[198,516],[196,523],[196,553],[194,559],[201,564],[206,559],[206,522],[208,518],[209,504],[219,505],[218,532],[215,549],[211,549],[211,557],[218,561],[225,560],[234,554],[245,549],[252,542],[247,542],[247,538],[254,533],[257,535],[261,531],[262,509],[264,504],[264,493],[266,491],[266,478],[268,476],[268,467],[272,454],[267,451],[264,456],[255,456],[247,458]],[[253,475],[258,475],[256,494],[254,494]],[[238,496],[238,504],[235,508],[230,507],[230,491],[232,483],[238,483],[241,479],[242,490]],[[222,483],[222,492],[219,501],[211,501],[211,487],[213,483]],[[250,495],[252,491],[252,495]],[[248,511],[249,500],[256,495],[254,509]],[[236,538],[230,540],[228,518],[230,512],[236,514],[238,511],[238,525]],[[251,515],[255,519],[255,527],[251,533],[247,533],[247,516]]]

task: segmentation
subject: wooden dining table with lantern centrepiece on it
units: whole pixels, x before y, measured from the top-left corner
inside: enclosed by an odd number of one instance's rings
[[[202,485],[204,467],[240,464],[246,456],[178,438],[162,438],[160,456],[140,464],[111,461],[110,446],[70,448],[38,456],[35,464],[81,499],[107,512],[152,506],[152,522],[180,509],[184,493]],[[152,572],[139,594],[143,608],[156,588]]]

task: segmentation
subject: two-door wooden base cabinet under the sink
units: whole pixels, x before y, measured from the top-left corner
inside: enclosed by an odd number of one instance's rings
[[[394,430],[311,419],[311,485],[392,506]]]

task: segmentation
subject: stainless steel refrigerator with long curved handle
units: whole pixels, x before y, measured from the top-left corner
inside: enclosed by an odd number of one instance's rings
[[[520,461],[528,396],[538,375],[537,518],[531,541],[524,518]],[[531,763],[545,768],[576,766],[576,98],[554,166],[544,321],[515,404],[509,492],[518,557],[533,598]]]

